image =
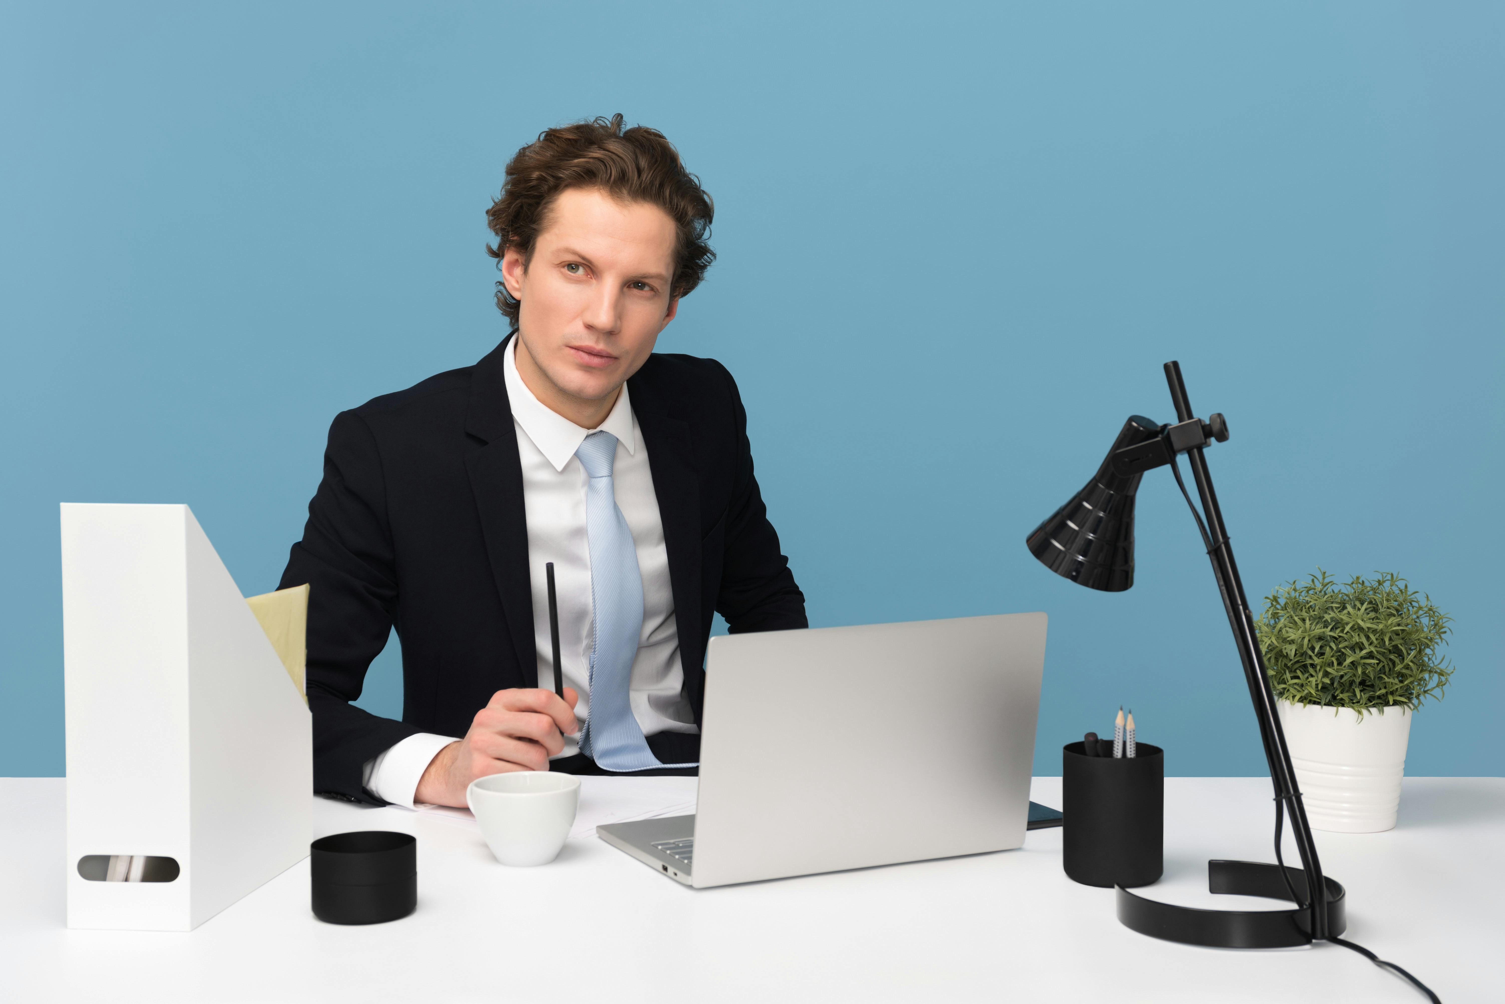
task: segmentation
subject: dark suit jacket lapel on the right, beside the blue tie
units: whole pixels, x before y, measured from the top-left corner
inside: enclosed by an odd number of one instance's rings
[[[652,365],[652,359],[649,361]],[[643,430],[664,523],[668,550],[668,579],[674,594],[674,622],[679,625],[679,652],[685,679],[700,672],[700,476],[695,470],[689,424],[667,407],[662,397],[640,376],[628,380],[632,413]],[[691,664],[694,663],[694,664]]]

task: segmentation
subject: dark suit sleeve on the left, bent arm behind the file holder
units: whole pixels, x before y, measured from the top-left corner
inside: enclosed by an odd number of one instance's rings
[[[397,573],[381,452],[366,421],[342,412],[330,427],[324,479],[309,504],[280,589],[309,583],[309,709],[313,789],[385,804],[361,786],[361,767],[420,729],[351,702],[390,637]]]

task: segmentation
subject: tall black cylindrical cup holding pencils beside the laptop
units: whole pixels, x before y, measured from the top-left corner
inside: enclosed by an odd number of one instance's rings
[[[1163,870],[1165,750],[1148,742],[1135,756],[1087,756],[1081,742],[1061,753],[1063,866],[1084,885],[1150,885]]]

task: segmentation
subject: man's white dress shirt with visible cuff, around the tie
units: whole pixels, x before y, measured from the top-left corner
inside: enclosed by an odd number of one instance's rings
[[[503,371],[512,424],[518,430],[522,461],[522,505],[528,520],[528,570],[533,579],[533,637],[539,652],[539,687],[552,688],[554,664],[549,642],[549,600],[545,562],[554,562],[560,610],[560,663],[564,684],[579,693],[575,717],[590,712],[590,544],[585,537],[585,469],[575,449],[591,431],[549,410],[518,374],[518,340],[507,344]],[[679,661],[679,630],[674,624],[674,594],[668,579],[668,550],[653,472],[643,431],[632,413],[628,386],[622,386],[602,431],[617,437],[613,482],[617,508],[632,529],[643,574],[643,633],[632,661],[629,700],[643,735],[698,732],[689,700],[683,694],[685,672]],[[480,708],[477,708],[480,711]],[[412,807],[412,795],[433,756],[453,736],[420,732],[367,761],[366,789],[378,798]],[[579,751],[575,738],[564,736],[558,756]]]

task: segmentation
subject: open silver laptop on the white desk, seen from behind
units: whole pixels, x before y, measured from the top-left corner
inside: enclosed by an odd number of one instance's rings
[[[694,816],[597,827],[695,888],[1023,843],[1044,613],[710,639]]]

